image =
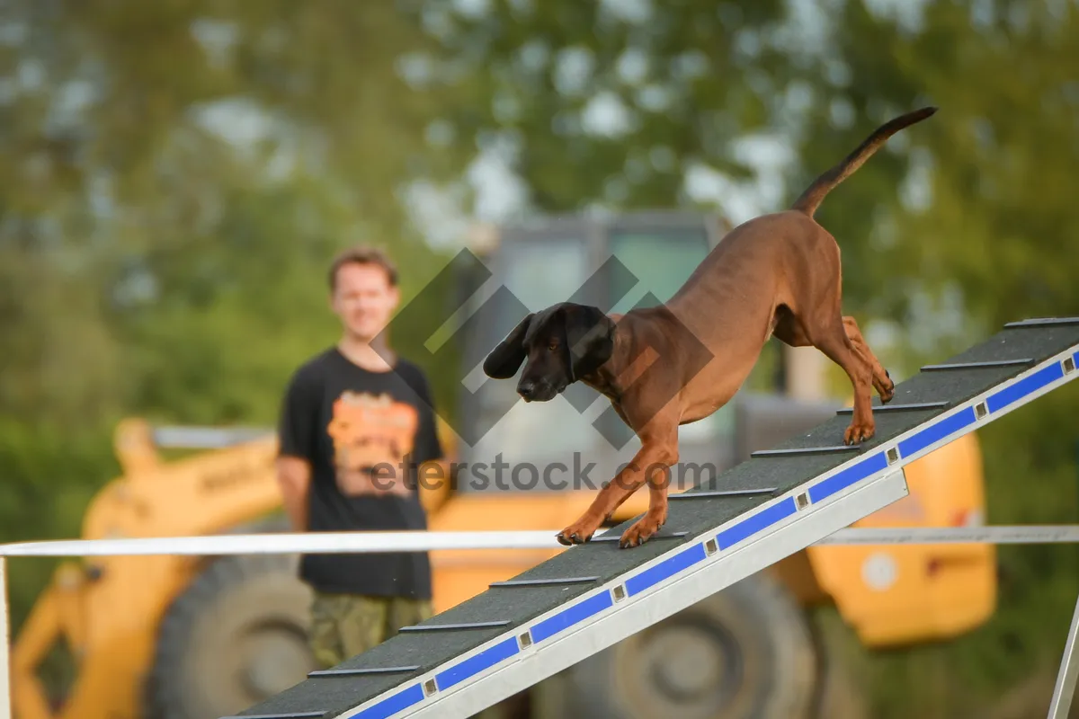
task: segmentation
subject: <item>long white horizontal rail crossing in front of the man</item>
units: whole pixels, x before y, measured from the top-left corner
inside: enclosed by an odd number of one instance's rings
[[[597,533],[602,536],[607,530]],[[379,554],[439,550],[566,549],[548,531],[352,531],[83,539],[0,544],[0,556],[128,556],[148,554]],[[830,544],[1079,543],[1079,525],[841,529]]]

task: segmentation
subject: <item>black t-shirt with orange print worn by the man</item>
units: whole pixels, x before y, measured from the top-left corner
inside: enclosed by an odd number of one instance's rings
[[[310,531],[426,529],[416,493],[416,467],[439,459],[434,402],[423,371],[398,358],[393,371],[370,372],[336,347],[292,375],[282,407],[281,454],[311,464]],[[404,468],[411,493],[350,496],[342,471],[374,467],[373,482]],[[431,562],[425,552],[305,554],[300,576],[320,592],[429,599]]]

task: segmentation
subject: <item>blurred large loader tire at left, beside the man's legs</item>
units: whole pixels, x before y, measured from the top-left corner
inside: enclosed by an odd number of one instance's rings
[[[215,559],[166,612],[147,681],[147,719],[217,719],[303,681],[310,590],[296,556]]]

